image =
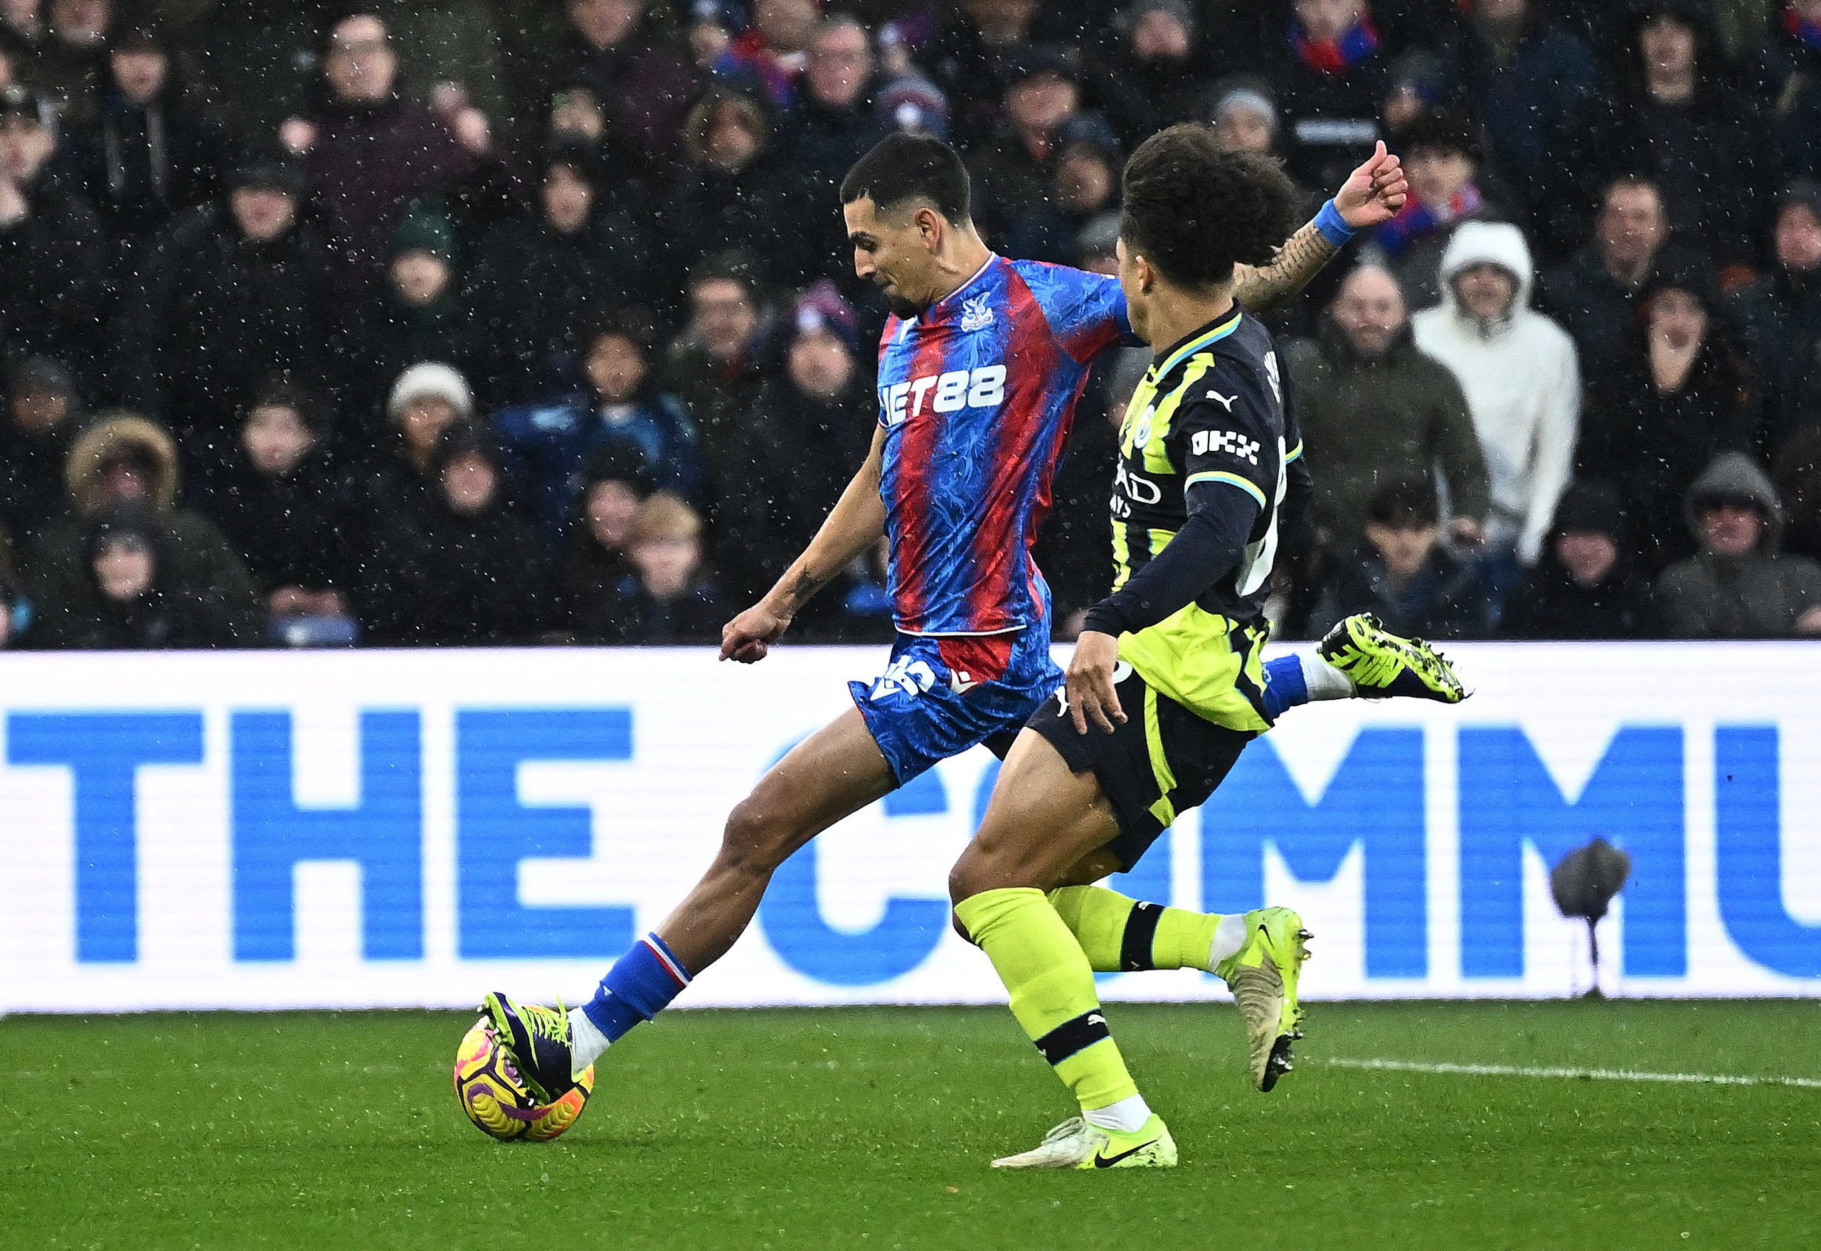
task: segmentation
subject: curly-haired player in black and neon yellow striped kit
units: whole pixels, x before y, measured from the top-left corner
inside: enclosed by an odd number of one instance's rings
[[[1295,202],[1273,162],[1222,153],[1200,126],[1153,135],[1125,168],[1118,277],[1155,359],[1120,430],[1118,575],[1087,614],[1065,687],[1005,758],[949,880],[956,923],[1082,1105],[998,1167],[1176,1164],[1107,1029],[1094,971],[1226,978],[1258,1087],[1289,1069],[1307,954],[1300,916],[1160,909],[1089,883],[1131,869],[1277,716],[1258,656],[1264,597],[1278,528],[1311,484],[1271,333],[1235,299],[1235,268],[1271,257]],[[1320,652],[1346,672],[1362,641],[1395,657],[1411,694],[1460,697],[1446,661],[1369,619],[1342,623]]]

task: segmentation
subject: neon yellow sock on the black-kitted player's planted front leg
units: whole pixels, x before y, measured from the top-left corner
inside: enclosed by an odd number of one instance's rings
[[[1012,1016],[1083,1109],[1138,1093],[1100,1012],[1094,971],[1042,890],[982,890],[954,914],[1011,992]]]

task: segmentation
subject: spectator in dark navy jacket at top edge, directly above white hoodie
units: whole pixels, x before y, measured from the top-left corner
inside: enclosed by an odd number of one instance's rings
[[[1473,0],[1462,49],[1464,104],[1486,124],[1488,157],[1526,215],[1553,186],[1562,122],[1599,89],[1599,66],[1550,16],[1548,0]]]

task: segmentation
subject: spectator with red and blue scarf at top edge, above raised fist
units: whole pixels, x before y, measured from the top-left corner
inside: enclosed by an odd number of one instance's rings
[[[1284,117],[1289,173],[1337,188],[1380,138],[1386,56],[1366,0],[1291,0],[1266,71]]]

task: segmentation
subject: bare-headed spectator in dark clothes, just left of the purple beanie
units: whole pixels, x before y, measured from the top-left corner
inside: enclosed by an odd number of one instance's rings
[[[767,311],[747,259],[723,253],[696,270],[688,308],[688,326],[665,361],[665,388],[688,408],[708,463],[727,464],[725,444],[765,375]]]

